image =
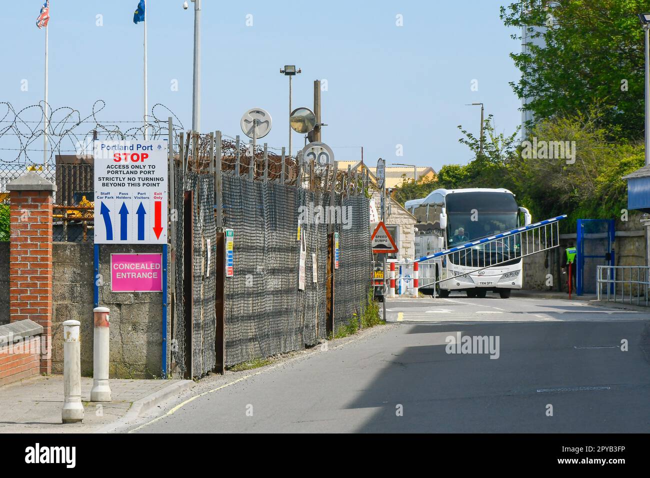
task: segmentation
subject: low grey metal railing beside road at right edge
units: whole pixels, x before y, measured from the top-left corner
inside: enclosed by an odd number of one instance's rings
[[[636,279],[632,271],[636,269]],[[606,271],[603,274],[603,271]],[[626,278],[627,272],[627,278]],[[641,298],[645,299],[645,306],[648,306],[648,291],[650,290],[650,267],[640,265],[599,265],[596,269],[596,295],[598,300],[608,300],[609,302],[619,302],[617,284],[621,284],[620,302],[629,302],[632,304],[632,291],[636,285],[636,305],[642,305]],[[629,293],[625,293],[627,285]],[[606,295],[603,293],[603,287]],[[642,294],[643,293],[643,294]],[[606,299],[603,299],[606,297]]]

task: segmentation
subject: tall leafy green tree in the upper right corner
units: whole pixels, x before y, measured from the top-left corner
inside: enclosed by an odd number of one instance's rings
[[[510,85],[530,99],[526,109],[536,121],[586,114],[597,105],[597,126],[619,127],[625,139],[643,137],[644,42],[637,14],[649,7],[647,0],[518,0],[500,7],[507,27],[545,27],[528,30],[528,47],[510,54],[522,73]]]

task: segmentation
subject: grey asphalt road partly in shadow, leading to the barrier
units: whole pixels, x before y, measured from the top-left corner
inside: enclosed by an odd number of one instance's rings
[[[648,313],[460,296],[387,310],[389,325],[327,351],[202,380],[134,431],[650,432]],[[465,336],[473,353],[448,353]]]

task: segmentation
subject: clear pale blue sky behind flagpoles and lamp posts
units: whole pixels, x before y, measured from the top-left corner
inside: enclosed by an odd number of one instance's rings
[[[192,4],[148,0],[149,108],[162,103],[186,128],[192,114]],[[101,120],[142,116],[142,23],[133,23],[138,0],[51,0],[49,104],[83,116],[106,101]],[[201,130],[240,133],[244,111],[270,112],[269,146],[287,145],[288,85],[279,73],[296,64],[293,106],[312,107],[313,80],[322,92],[323,140],[336,159],[378,157],[387,163],[465,164],[459,124],[478,133],[482,101],[497,131],[512,133],[521,103],[508,81],[519,72],[508,57],[520,45],[499,19],[494,0],[257,1],[203,0]],[[36,28],[42,0],[3,2],[0,101],[16,109],[43,97],[44,31]],[[98,27],[101,14],[103,26]],[[253,26],[246,26],[252,15]],[[396,15],[404,26],[396,26]],[[516,32],[515,32],[516,33]],[[27,79],[28,90],[21,91]],[[478,91],[471,90],[473,79]],[[178,91],[172,91],[177,80]],[[4,110],[0,111],[0,116]],[[303,144],[294,133],[294,150]],[[8,139],[0,138],[0,148]],[[396,156],[401,144],[404,155]],[[40,146],[40,143],[39,143]],[[36,155],[37,156],[37,155]],[[11,155],[0,151],[0,157]]]

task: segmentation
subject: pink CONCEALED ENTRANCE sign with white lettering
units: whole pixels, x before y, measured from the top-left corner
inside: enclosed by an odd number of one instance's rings
[[[112,292],[161,292],[162,254],[110,254]]]

